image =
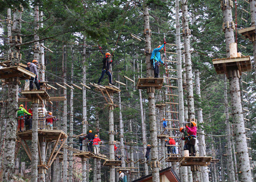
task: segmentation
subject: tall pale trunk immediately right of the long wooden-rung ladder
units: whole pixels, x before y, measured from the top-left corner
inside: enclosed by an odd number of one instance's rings
[[[176,25],[176,51],[177,51],[177,78],[178,78],[178,95],[179,95],[179,121],[180,126],[184,125],[184,101],[183,101],[183,85],[182,85],[182,60],[181,60],[181,35],[180,35],[180,4],[179,0],[175,0],[175,25]],[[180,133],[182,137],[182,133]],[[180,142],[180,154],[184,156],[184,141]],[[180,166],[181,182],[187,182],[187,167]]]

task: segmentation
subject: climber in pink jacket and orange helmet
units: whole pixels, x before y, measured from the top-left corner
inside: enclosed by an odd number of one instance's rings
[[[189,151],[189,156],[196,156],[196,149],[195,149],[195,144],[196,144],[196,138],[197,138],[197,126],[196,122],[191,121],[190,127],[186,126],[187,128],[187,133],[189,134],[188,137],[188,151]],[[193,153],[191,153],[191,147],[193,149]]]

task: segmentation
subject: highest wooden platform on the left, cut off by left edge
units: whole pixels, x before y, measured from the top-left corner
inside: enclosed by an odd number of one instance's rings
[[[30,79],[31,77],[34,78],[35,74],[20,66],[0,68],[0,78],[5,79],[5,82],[8,82],[12,77],[18,77],[21,80],[25,80]]]

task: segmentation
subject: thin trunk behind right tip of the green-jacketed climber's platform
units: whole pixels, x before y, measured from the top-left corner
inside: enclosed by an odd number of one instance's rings
[[[62,73],[63,73],[63,83],[67,83],[67,56],[66,56],[66,45],[63,45],[63,55],[62,55]],[[67,89],[63,89],[63,95],[67,98]],[[67,100],[63,101],[63,131],[67,133]],[[67,141],[65,142],[67,145]],[[63,182],[67,182],[68,177],[68,150],[63,148]]]

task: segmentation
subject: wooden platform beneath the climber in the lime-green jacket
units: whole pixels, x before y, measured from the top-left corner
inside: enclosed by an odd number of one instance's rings
[[[44,130],[38,129],[38,138],[46,137],[46,142],[52,142],[54,140],[65,139],[68,137],[66,133],[62,130]],[[23,132],[17,132],[16,136],[19,136],[22,140],[31,140],[32,139],[32,130],[27,130]]]

